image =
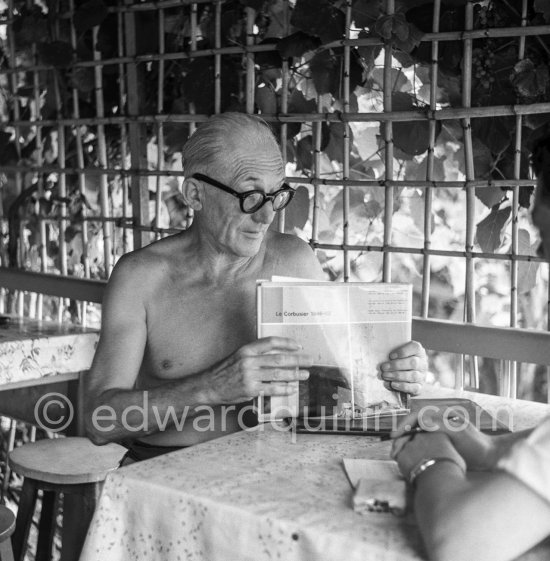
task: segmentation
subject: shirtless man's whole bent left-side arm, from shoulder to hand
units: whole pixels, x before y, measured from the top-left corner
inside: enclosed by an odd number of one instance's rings
[[[174,415],[192,416],[199,405],[241,403],[260,392],[288,395],[287,382],[307,378],[302,369],[311,359],[301,347],[272,337],[245,345],[204,371],[135,389],[147,341],[144,302],[147,290],[154,290],[147,281],[147,267],[131,255],[117,264],[106,289],[100,342],[85,386],[86,431],[96,444],[158,432],[157,419],[173,424]]]

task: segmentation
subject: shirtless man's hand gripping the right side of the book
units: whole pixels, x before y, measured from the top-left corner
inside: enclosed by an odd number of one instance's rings
[[[424,347],[409,341],[394,349],[387,362],[380,364],[384,386],[411,395],[418,395],[426,381],[428,359]]]

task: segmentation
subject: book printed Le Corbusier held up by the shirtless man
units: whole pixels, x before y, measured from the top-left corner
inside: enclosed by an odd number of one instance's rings
[[[260,422],[401,409],[401,395],[384,387],[378,366],[410,341],[411,307],[408,284],[259,281],[258,337],[295,339],[314,361],[295,394],[260,397]]]

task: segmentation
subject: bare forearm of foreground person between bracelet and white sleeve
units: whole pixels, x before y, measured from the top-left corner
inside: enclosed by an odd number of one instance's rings
[[[500,471],[467,479],[441,463],[418,479],[414,504],[432,561],[509,561],[550,533],[550,505]]]

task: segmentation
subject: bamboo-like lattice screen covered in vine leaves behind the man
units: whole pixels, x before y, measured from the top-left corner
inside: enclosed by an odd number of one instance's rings
[[[181,147],[244,111],[273,125],[298,188],[278,227],[327,278],[412,282],[425,318],[546,329],[528,212],[550,113],[543,4],[1,0],[2,265],[106,279],[188,227]],[[2,306],[100,314],[22,291]]]

